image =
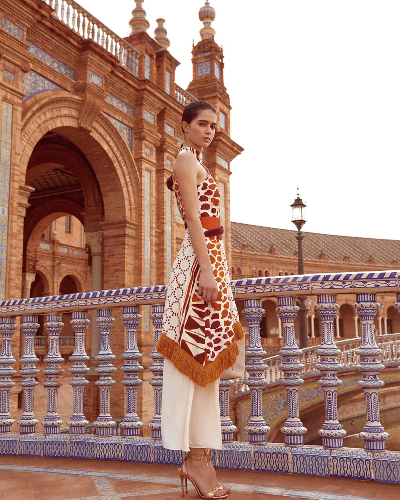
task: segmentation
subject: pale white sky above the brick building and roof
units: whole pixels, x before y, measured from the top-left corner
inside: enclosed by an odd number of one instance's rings
[[[133,0],[79,0],[120,36]],[[145,0],[150,36],[163,17],[176,83],[192,76],[201,0]],[[231,220],[304,231],[400,239],[400,2],[210,0],[223,45],[231,137]],[[304,240],[304,244],[305,244]]]

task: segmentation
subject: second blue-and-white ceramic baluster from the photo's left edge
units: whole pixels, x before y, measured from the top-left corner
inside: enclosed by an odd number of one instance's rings
[[[30,314],[22,316],[21,331],[23,334],[24,348],[23,356],[19,359],[21,369],[18,373],[22,375],[22,380],[19,382],[19,385],[23,390],[23,411],[20,419],[17,421],[21,434],[34,434],[36,424],[39,423],[33,412],[34,388],[39,383],[34,379],[36,373],[39,372],[34,365],[34,363],[39,360],[34,353],[34,336],[39,326],[37,316]]]

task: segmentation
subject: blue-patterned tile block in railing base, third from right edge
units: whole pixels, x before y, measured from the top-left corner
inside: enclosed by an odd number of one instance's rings
[[[304,445],[291,450],[291,472],[293,474],[329,475],[329,449]]]

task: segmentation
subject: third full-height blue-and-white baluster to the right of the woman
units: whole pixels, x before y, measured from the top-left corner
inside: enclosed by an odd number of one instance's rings
[[[337,419],[337,387],[341,384],[341,380],[337,378],[336,374],[342,365],[337,361],[341,350],[337,348],[334,341],[333,321],[339,309],[336,296],[318,295],[315,309],[322,323],[321,345],[315,351],[320,356],[320,361],[315,368],[322,374],[318,384],[323,390],[325,406],[325,421],[322,428],[318,430],[318,434],[322,436],[324,448],[341,448],[346,431]]]

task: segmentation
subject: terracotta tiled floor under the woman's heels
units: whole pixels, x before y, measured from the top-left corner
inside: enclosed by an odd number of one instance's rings
[[[218,478],[230,485],[229,500],[400,498],[398,484],[355,479],[226,469],[218,470]],[[112,460],[0,457],[1,500],[128,500],[137,496],[146,500],[181,498],[176,467]],[[198,498],[192,487],[185,497]]]

